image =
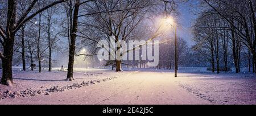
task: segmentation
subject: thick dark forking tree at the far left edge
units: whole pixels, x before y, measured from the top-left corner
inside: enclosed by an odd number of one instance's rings
[[[32,9],[35,7],[38,0],[33,0],[31,2],[27,1],[29,4],[27,10],[22,13],[18,18],[17,13],[17,0],[9,0],[7,3],[7,16],[3,17],[7,20],[6,29],[1,25],[0,26],[0,35],[2,39],[0,43],[3,46],[3,53],[0,52],[0,57],[3,64],[3,73],[1,78],[1,83],[5,85],[13,84],[13,73],[12,73],[12,61],[13,61],[13,51],[14,51],[14,40],[15,34],[26,23],[28,20],[34,18],[36,15],[41,13],[44,10],[47,10],[49,7],[55,6],[59,3],[65,2],[65,0],[58,0],[52,3],[49,3],[46,7],[43,7],[40,10],[32,12]]]

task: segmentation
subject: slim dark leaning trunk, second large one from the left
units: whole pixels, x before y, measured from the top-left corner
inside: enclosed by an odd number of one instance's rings
[[[75,58],[75,51],[76,51],[76,32],[77,32],[79,7],[80,7],[80,0],[76,0],[76,5],[75,5],[74,15],[73,15],[71,45],[69,47],[68,74],[67,74],[67,80],[69,80],[69,81],[74,80],[74,78],[73,78],[73,66],[74,66],[74,58]]]

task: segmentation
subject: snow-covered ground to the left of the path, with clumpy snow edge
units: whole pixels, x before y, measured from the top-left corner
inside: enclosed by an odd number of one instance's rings
[[[52,72],[44,70],[20,71],[20,68],[13,69],[13,86],[0,85],[0,100],[8,97],[31,97],[49,94],[50,92],[63,92],[64,90],[81,88],[95,82],[108,81],[126,74],[125,72],[115,73],[110,69],[74,69],[75,81],[65,81],[67,72],[53,68]],[[0,71],[2,75],[2,71]],[[56,89],[56,90],[54,90]],[[16,94],[16,93],[18,94]]]

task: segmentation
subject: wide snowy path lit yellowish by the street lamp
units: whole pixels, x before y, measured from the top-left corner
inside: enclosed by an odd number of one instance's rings
[[[49,96],[7,98],[0,104],[209,104],[175,83],[174,73],[136,72]]]

